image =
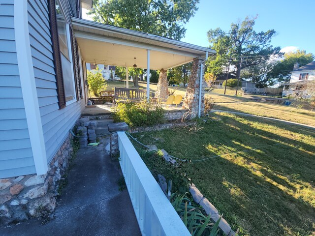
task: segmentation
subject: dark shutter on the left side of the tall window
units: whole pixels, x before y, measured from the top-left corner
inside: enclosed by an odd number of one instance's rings
[[[51,41],[53,44],[52,48],[53,48],[54,65],[55,65],[55,73],[56,73],[58,105],[59,105],[59,109],[62,109],[65,107],[65,95],[64,95],[64,87],[63,87],[63,71],[62,71],[59,41],[58,41],[55,0],[49,0],[49,21],[50,21]]]

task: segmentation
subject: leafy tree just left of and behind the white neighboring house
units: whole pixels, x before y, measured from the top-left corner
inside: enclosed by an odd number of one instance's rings
[[[296,52],[288,52],[284,54],[284,59],[278,61],[273,69],[267,74],[270,80],[281,82],[290,81],[290,71],[293,70],[294,64],[299,63],[299,66],[306,65],[315,59],[312,53],[306,53],[304,50]]]

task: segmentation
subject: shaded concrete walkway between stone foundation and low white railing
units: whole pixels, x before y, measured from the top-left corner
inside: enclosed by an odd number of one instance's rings
[[[109,139],[102,142],[78,151],[54,219],[2,226],[0,236],[140,236],[128,192],[119,190],[119,162],[105,150]]]

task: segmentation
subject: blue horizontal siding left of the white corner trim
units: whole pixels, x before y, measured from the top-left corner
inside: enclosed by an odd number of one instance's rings
[[[14,2],[0,1],[0,178],[36,172],[14,33]]]

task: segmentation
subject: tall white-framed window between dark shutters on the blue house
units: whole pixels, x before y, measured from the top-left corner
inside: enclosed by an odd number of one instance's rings
[[[65,21],[59,0],[56,0],[56,20],[59,50],[61,52],[64,95],[65,101],[68,102],[75,99],[74,73],[72,66],[72,52],[70,46],[70,29],[69,25]]]

